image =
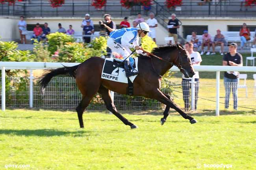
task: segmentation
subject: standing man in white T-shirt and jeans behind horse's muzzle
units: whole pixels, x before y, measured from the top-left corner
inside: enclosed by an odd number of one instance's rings
[[[193,51],[193,43],[186,42],[185,48],[187,49],[192,65],[200,65],[202,62],[202,58],[200,53]],[[195,75],[192,78],[186,78],[182,75],[182,92],[183,92],[183,100],[185,103],[185,110],[189,110],[189,98],[190,98],[190,89],[191,89],[191,80],[195,80],[195,110],[197,110],[197,100],[198,100],[198,89],[199,89],[199,74],[198,71],[195,71]],[[192,99],[191,99],[192,100]]]

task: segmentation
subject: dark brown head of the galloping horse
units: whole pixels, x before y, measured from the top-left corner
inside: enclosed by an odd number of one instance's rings
[[[174,57],[173,63],[178,66],[186,78],[193,77],[193,75],[195,75],[195,70],[191,64],[189,53],[179,44],[177,44],[177,49],[178,56],[176,58]]]

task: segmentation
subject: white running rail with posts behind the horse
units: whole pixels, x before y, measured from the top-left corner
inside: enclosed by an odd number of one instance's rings
[[[54,69],[60,68],[64,66],[75,66],[80,63],[60,63],[60,62],[0,62],[0,67],[2,69],[2,111],[6,109],[6,90],[5,90],[5,70],[6,69],[30,69],[30,108],[33,107],[33,69]],[[243,71],[243,72],[256,72],[256,67],[249,67],[249,66],[194,66],[195,71],[213,71],[216,72],[216,108],[215,108],[215,115],[219,116],[219,99],[220,99],[220,71]],[[170,71],[180,71],[177,67],[173,67]],[[195,82],[192,80],[191,88],[194,88],[193,84]],[[192,92],[192,99],[194,99]],[[192,101],[191,106],[193,110]]]

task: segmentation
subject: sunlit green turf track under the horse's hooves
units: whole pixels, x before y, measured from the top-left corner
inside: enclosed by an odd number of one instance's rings
[[[255,112],[197,113],[197,124],[171,114],[163,126],[162,111],[125,113],[138,129],[106,111],[85,112],[84,129],[75,112],[1,112],[0,170],[197,170],[198,163],[255,169]]]

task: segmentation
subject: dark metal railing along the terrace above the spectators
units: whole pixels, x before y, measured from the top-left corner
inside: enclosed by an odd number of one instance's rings
[[[154,1],[151,7],[145,8],[141,5],[130,9],[122,7],[119,2],[107,2],[102,9],[95,9],[91,1],[66,1],[61,7],[52,8],[48,1],[33,0],[17,2],[13,6],[0,4],[0,15],[13,16],[84,16],[90,13],[91,16],[102,16],[109,13],[112,16],[131,16],[142,13],[147,15],[153,12],[156,16],[170,16],[176,13],[179,16],[255,16],[255,7],[245,7],[240,0],[214,0],[203,3],[202,1],[184,0],[181,6],[168,9],[165,2]],[[168,18],[168,17],[167,17]]]

